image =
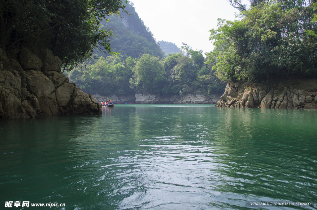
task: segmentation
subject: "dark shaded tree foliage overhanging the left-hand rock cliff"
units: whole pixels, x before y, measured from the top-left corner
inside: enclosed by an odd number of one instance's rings
[[[125,5],[122,0],[3,0],[0,7],[0,48],[49,48],[72,69],[95,48],[111,52],[113,32],[100,23],[120,16]]]

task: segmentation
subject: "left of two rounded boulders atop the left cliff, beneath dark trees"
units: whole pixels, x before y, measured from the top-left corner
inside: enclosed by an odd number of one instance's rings
[[[23,70],[40,71],[42,67],[41,59],[25,47],[21,49],[20,64]]]

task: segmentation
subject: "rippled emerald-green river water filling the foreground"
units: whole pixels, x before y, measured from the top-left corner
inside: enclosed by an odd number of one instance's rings
[[[0,121],[0,209],[317,209],[317,110],[102,109]]]

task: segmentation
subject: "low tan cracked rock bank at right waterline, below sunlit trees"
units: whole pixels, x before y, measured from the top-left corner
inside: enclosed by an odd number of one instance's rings
[[[317,80],[287,80],[273,83],[267,91],[261,83],[228,83],[217,107],[316,109]]]

